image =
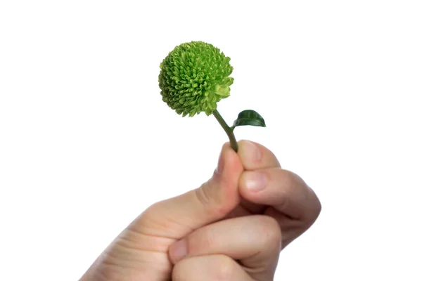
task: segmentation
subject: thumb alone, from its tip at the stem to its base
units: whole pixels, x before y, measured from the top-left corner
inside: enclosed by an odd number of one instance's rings
[[[212,178],[200,188],[153,204],[129,228],[148,235],[181,239],[193,230],[219,221],[240,202],[241,159],[225,143]]]

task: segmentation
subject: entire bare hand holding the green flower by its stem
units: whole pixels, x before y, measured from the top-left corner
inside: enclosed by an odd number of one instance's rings
[[[258,143],[223,145],[212,178],[153,204],[96,259],[81,281],[273,280],[280,251],[321,204]]]

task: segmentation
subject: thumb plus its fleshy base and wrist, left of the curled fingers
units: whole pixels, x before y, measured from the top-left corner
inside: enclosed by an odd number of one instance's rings
[[[146,209],[103,251],[81,281],[171,280],[170,245],[219,221],[239,204],[242,172],[240,157],[224,145],[209,181]]]

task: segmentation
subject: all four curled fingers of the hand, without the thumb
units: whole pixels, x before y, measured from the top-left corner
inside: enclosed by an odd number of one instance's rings
[[[241,203],[170,246],[173,280],[273,280],[279,251],[319,215],[314,192],[267,148],[241,141],[238,155]]]

